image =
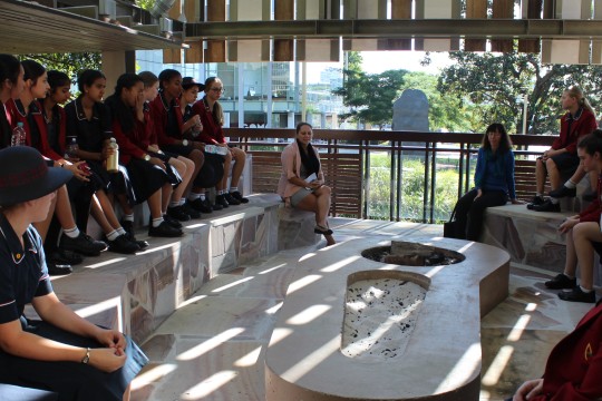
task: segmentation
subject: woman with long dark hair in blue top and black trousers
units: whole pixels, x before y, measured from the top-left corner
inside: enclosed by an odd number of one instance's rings
[[[475,187],[456,204],[456,238],[478,241],[485,208],[516,200],[514,153],[502,124],[492,124],[483,136],[475,170]]]

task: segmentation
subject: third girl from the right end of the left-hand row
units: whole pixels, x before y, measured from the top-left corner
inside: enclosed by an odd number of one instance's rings
[[[179,95],[182,94],[182,75],[174,69],[161,71],[158,76],[159,94],[151,102],[151,116],[156,130],[158,145],[166,153],[184,156],[194,162],[194,172],[184,194],[187,194],[186,207],[188,213],[200,217],[204,205],[201,195],[204,194],[197,178],[205,163],[203,155],[204,145],[188,140],[183,136],[184,121],[179,108]]]

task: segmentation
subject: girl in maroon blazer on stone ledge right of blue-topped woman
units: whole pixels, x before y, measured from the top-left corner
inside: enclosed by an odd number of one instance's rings
[[[575,196],[576,184],[585,176],[579,168],[576,144],[579,138],[591,134],[596,127],[595,115],[588,99],[577,87],[572,87],[562,94],[562,108],[566,114],[561,118],[561,131],[552,147],[537,158],[535,175],[537,179],[536,194],[527,208],[536,212],[560,212],[559,198]],[[562,174],[571,174],[571,178],[562,185]],[[550,198],[543,198],[545,177],[550,176]],[[598,176],[590,174],[592,188],[595,187]]]

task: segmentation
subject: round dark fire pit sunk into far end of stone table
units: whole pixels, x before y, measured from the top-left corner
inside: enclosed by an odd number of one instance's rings
[[[361,252],[370,261],[405,266],[438,266],[463,262],[466,257],[455,251],[411,242],[392,241],[390,246],[375,246]]]

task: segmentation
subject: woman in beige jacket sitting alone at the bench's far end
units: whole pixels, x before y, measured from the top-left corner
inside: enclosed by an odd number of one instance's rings
[[[324,173],[318,151],[311,146],[312,126],[297,125],[297,138],[282,150],[282,175],[278,194],[291,207],[315,213],[315,234],[322,234],[327,245],[336,244],[328,226],[330,187],[324,185]]]

